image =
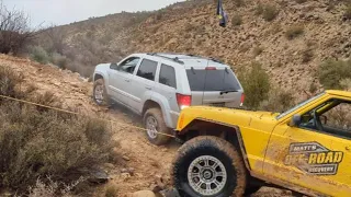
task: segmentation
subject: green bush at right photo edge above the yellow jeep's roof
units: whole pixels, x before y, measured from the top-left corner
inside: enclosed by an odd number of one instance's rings
[[[342,89],[340,82],[351,78],[351,59],[322,62],[318,69],[319,82],[325,89]]]

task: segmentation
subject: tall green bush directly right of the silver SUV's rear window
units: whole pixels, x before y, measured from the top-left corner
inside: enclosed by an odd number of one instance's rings
[[[252,62],[250,71],[239,73],[246,94],[245,106],[250,109],[258,109],[260,103],[268,99],[270,92],[270,78],[262,66]]]

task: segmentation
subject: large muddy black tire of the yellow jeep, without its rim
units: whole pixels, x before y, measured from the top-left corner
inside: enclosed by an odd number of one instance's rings
[[[211,197],[242,196],[247,183],[247,173],[239,152],[229,142],[211,136],[196,137],[179,149],[171,172],[173,185],[179,194],[189,197],[202,196],[191,186],[188,179],[188,171],[193,161],[204,155],[220,161],[227,173],[227,179],[222,190]]]

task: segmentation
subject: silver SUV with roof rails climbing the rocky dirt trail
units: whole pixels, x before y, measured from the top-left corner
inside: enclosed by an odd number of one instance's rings
[[[144,117],[147,137],[168,142],[182,108],[193,105],[239,107],[244,90],[230,67],[213,58],[180,54],[134,54],[104,63],[93,74],[97,104],[125,105]]]

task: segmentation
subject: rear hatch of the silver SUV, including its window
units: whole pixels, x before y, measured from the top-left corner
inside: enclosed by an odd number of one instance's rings
[[[244,90],[229,67],[186,69],[191,89],[191,105],[240,107]]]

